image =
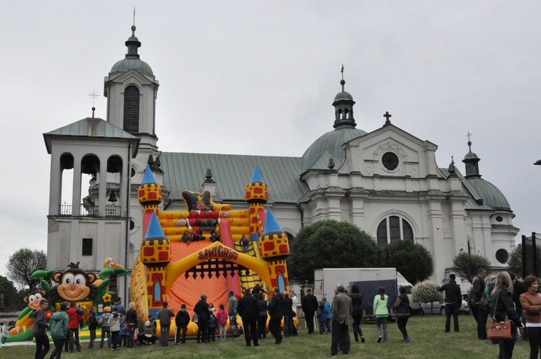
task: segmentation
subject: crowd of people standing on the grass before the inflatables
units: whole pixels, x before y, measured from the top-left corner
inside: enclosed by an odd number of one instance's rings
[[[157,319],[160,322],[161,346],[169,346],[169,331],[174,320],[175,336],[174,343],[186,343],[186,330],[190,321],[198,326],[197,343],[210,343],[226,341],[227,322],[229,320],[229,334],[242,336],[246,346],[259,346],[259,341],[267,337],[268,331],[273,335],[275,344],[280,344],[283,337],[296,336],[297,328],[294,324],[297,317],[297,306],[300,304],[306,322],[307,334],[314,334],[314,322],[319,323],[320,334],[331,334],[331,355],[341,351],[344,354],[351,350],[350,327],[353,328],[355,342],[365,343],[363,331],[360,328],[360,320],[363,317],[363,295],[360,294],[358,285],[351,286],[348,295],[343,285],[337,285],[332,304],[322,297],[317,300],[311,289],[307,289],[306,295],[300,303],[295,292],[280,292],[278,288],[273,290],[270,300],[266,300],[267,293],[260,285],[253,288],[243,288],[244,295],[237,300],[233,292],[229,292],[229,300],[226,304],[220,303],[219,309],[207,302],[207,296],[201,295],[195,304],[193,315],[186,309],[186,304],[175,314],[164,302]],[[462,292],[456,283],[454,274],[449,276],[448,283],[438,288],[445,292],[445,333],[451,329],[460,331],[458,311],[462,304]],[[477,337],[486,340],[486,324],[488,319],[494,321],[509,320],[512,324],[512,338],[509,340],[494,341],[499,345],[499,358],[512,358],[515,341],[519,338],[530,342],[530,358],[537,358],[541,346],[541,295],[539,294],[539,282],[537,277],[528,275],[523,282],[517,280],[513,273],[502,271],[491,277],[484,268],[479,269],[473,280],[472,288],[468,294],[471,312],[477,322]],[[399,287],[399,295],[394,304],[389,304],[389,296],[385,294],[385,288],[379,287],[377,295],[373,298],[373,315],[376,321],[377,343],[387,341],[387,323],[389,308],[393,308],[397,319],[397,326],[402,334],[403,341],[409,343],[410,337],[406,325],[410,316],[409,299],[406,288]],[[33,334],[35,336],[35,358],[45,358],[50,351],[49,336],[54,343],[55,349],[50,358],[60,358],[62,351],[81,351],[79,341],[79,328],[82,323],[82,309],[76,303],[63,302],[60,310],[52,314],[50,319],[45,319],[47,300],[40,302],[40,310],[35,314]],[[242,326],[237,323],[237,315],[242,319]],[[282,325],[283,321],[283,325]],[[120,346],[132,348],[134,339],[140,345],[152,345],[157,341],[156,320],[149,316],[143,325],[139,327],[135,304],[131,302],[126,310],[121,298],[115,301],[113,307],[104,307],[101,317],[96,317],[95,308],[90,309],[89,349],[95,348],[96,329],[101,328],[100,348],[105,345],[111,350],[117,350]],[[140,328],[140,327],[139,327]],[[5,328],[3,327],[4,331]],[[107,343],[105,343],[107,339]]]

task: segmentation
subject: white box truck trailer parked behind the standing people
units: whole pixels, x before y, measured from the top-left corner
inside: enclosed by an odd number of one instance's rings
[[[319,299],[326,297],[329,302],[334,297],[334,288],[341,284],[349,287],[357,284],[363,295],[363,309],[365,314],[372,313],[372,303],[377,295],[378,287],[385,287],[385,294],[389,296],[389,306],[392,307],[397,300],[398,288],[406,287],[411,292],[411,283],[396,268],[321,268],[314,270],[314,295]],[[409,306],[412,311],[419,309],[419,304],[409,297]]]

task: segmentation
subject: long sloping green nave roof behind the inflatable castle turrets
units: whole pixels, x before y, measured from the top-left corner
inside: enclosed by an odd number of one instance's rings
[[[300,157],[162,152],[160,161],[164,184],[171,190],[173,200],[181,199],[183,190],[200,190],[210,169],[221,200],[244,202],[245,186],[251,182],[256,165],[268,185],[272,202],[297,203],[308,190],[299,179]]]

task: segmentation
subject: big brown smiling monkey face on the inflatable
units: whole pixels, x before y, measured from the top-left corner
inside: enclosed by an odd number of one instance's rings
[[[52,299],[55,302],[60,298],[68,302],[94,300],[98,288],[92,283],[97,279],[96,275],[86,273],[79,268],[79,263],[69,263],[68,267],[64,272],[52,275],[52,280],[58,283],[51,288]]]

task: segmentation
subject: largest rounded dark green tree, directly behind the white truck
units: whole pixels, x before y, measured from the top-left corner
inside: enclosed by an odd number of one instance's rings
[[[313,282],[317,268],[380,266],[380,251],[370,234],[347,222],[324,220],[303,227],[290,247],[287,270],[297,280]]]

